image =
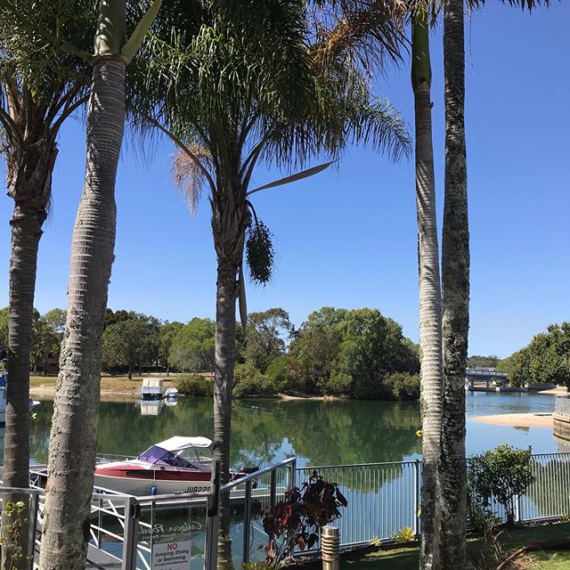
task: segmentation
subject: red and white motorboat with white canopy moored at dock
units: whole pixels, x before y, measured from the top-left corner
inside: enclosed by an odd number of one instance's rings
[[[96,487],[134,496],[206,493],[213,485],[212,441],[174,436],[152,445],[135,459],[103,461],[95,466]],[[241,468],[232,480],[257,468]]]

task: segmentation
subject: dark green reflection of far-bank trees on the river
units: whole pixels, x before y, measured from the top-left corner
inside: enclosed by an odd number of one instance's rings
[[[45,462],[52,404],[36,412],[30,449]],[[419,425],[417,403],[244,400],[233,404],[232,463],[270,465],[289,451],[308,465],[398,461],[420,452]],[[181,399],[158,416],[142,416],[134,402],[100,406],[100,452],[134,455],[171,436],[212,433],[208,398]]]

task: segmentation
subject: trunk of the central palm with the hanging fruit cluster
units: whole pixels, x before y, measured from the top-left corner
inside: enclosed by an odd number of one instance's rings
[[[243,256],[245,195],[228,190],[213,200],[212,229],[217,257],[216,347],[214,355],[214,459],[220,463],[221,482],[230,480],[233,368],[235,366],[235,310],[238,270]],[[241,277],[241,276],[240,276]],[[220,497],[218,567],[232,568],[230,495]]]

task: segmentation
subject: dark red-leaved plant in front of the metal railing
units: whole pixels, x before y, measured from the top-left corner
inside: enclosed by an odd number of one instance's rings
[[[264,530],[269,542],[265,550],[265,566],[277,566],[295,548],[311,550],[319,541],[324,525],[341,517],[339,507],[348,502],[336,483],[327,483],[316,472],[309,480],[285,493],[284,501],[264,510]]]

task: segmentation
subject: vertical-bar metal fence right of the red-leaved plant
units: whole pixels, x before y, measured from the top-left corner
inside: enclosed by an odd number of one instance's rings
[[[570,514],[570,453],[533,454],[534,482],[516,498],[515,522],[547,521]],[[337,483],[348,501],[338,526],[343,548],[389,541],[403,528],[419,536],[421,461],[325,465],[297,468],[302,485],[317,473]],[[501,505],[492,500],[493,513],[506,520]]]

